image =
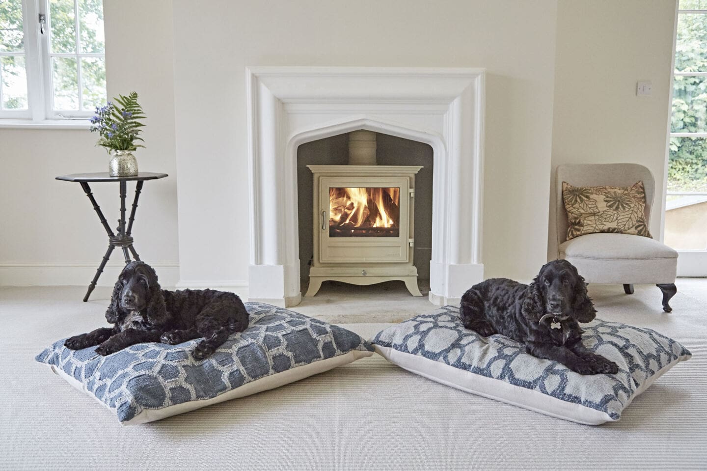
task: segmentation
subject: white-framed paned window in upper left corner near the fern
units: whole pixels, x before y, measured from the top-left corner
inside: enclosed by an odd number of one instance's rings
[[[0,0],[1,119],[85,120],[105,103],[102,0]]]

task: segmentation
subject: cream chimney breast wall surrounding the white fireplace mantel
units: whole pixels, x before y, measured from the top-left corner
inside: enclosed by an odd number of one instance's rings
[[[247,280],[245,66],[486,67],[486,274],[530,277],[545,261],[556,1],[176,0],[174,12],[185,286]]]

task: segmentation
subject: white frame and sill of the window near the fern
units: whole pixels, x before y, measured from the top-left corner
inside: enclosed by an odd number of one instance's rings
[[[0,110],[0,127],[61,127],[86,128],[90,126],[89,118],[93,110],[54,110],[52,84],[52,57],[76,57],[78,61],[78,100],[81,107],[81,57],[103,57],[103,54],[83,53],[78,41],[81,37],[78,24],[78,0],[74,0],[74,15],[76,28],[76,52],[50,53],[51,18],[47,0],[23,0],[22,14],[25,33],[25,68],[27,74],[27,104],[28,110]],[[46,18],[44,33],[40,31],[40,14]],[[9,55],[11,53],[3,54]]]

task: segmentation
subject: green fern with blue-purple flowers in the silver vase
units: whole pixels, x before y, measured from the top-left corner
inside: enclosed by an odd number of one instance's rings
[[[107,105],[95,108],[95,115],[90,119],[90,131],[100,134],[97,146],[105,147],[108,153],[135,151],[138,147],[144,147],[136,142],[144,142],[140,137],[144,124],[140,120],[146,119],[137,98],[136,92],[127,96],[118,95],[113,100],[119,106],[109,101]]]

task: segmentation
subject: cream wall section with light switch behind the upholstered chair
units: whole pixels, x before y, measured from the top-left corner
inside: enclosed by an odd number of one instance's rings
[[[641,163],[655,177],[650,232],[660,236],[670,115],[674,0],[561,0],[557,9],[552,170]],[[649,97],[636,82],[649,80]],[[557,257],[554,173],[548,257]]]

